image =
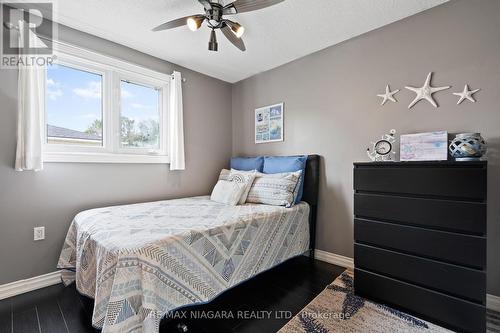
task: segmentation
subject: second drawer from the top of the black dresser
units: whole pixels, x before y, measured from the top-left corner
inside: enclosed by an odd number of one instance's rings
[[[354,214],[455,232],[486,233],[486,204],[479,202],[356,193]]]

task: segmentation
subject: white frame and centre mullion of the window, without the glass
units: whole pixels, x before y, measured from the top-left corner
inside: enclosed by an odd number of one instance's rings
[[[168,157],[170,75],[64,43],[58,43],[54,53],[57,64],[102,76],[103,144],[102,146],[95,147],[49,144],[47,143],[47,133],[45,133],[43,147],[44,162],[170,162]],[[160,147],[158,150],[121,147],[121,81],[128,81],[159,90]],[[46,132],[46,112],[44,112],[43,118]]]

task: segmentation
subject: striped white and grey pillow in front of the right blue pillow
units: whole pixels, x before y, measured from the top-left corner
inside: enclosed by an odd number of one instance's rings
[[[247,202],[291,207],[295,203],[302,171],[263,174],[256,173]]]

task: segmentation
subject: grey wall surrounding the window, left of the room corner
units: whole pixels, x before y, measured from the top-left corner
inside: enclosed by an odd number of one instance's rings
[[[45,164],[15,172],[17,71],[0,70],[0,284],[56,270],[69,224],[88,208],[208,194],[231,155],[231,85],[94,36],[61,27],[60,39],[187,78],[186,171],[168,165]],[[33,227],[46,239],[33,242]]]

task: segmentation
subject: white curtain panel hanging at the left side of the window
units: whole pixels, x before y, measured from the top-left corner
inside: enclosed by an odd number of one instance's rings
[[[24,31],[19,22],[19,31]],[[19,45],[25,45],[24,34],[19,34]],[[30,34],[29,45],[36,36]],[[33,40],[32,40],[33,39]],[[17,171],[43,169],[42,142],[44,136],[43,114],[45,108],[45,68],[19,64],[17,107]]]

